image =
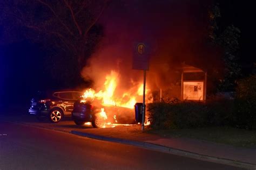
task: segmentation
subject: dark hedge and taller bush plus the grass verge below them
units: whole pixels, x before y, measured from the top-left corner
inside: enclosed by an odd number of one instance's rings
[[[148,105],[149,132],[256,147],[256,75],[237,82],[233,99],[178,101]]]

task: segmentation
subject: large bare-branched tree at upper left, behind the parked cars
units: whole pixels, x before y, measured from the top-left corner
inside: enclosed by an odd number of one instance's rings
[[[108,0],[1,1],[3,37],[6,42],[16,34],[16,38],[18,36],[44,45],[50,52],[46,62],[53,79],[77,77],[103,35],[102,26],[96,23],[107,4]],[[58,64],[60,60],[63,62]],[[62,74],[59,74],[60,70]]]

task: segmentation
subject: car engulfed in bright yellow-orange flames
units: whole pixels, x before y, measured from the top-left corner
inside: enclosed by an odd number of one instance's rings
[[[118,86],[119,79],[120,75],[111,70],[97,91],[91,88],[85,90],[72,111],[77,125],[91,122],[96,128],[104,128],[107,125],[135,122],[134,105],[142,99],[143,83],[131,82],[132,87],[126,89]],[[146,89],[147,92],[149,89]]]

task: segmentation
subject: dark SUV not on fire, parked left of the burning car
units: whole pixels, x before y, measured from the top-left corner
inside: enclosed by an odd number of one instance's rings
[[[31,100],[29,113],[38,119],[48,117],[52,123],[58,123],[64,116],[71,116],[73,104],[82,96],[80,91],[56,91],[38,93]]]

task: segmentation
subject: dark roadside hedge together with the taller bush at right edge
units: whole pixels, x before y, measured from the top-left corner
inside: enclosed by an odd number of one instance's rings
[[[152,129],[232,126],[256,130],[256,75],[238,81],[234,99],[151,103],[147,110]]]

